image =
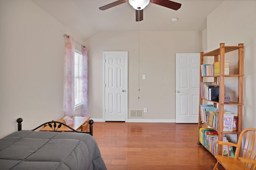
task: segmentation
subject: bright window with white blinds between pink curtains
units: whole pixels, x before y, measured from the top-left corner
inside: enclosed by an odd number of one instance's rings
[[[82,105],[82,58],[80,51],[75,51],[74,57],[74,97],[75,107]]]

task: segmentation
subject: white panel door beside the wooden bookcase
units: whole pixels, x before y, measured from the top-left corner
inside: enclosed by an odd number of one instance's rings
[[[198,123],[200,53],[176,53],[176,123]]]

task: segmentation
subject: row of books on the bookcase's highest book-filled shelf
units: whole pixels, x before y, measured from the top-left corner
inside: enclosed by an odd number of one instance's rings
[[[220,61],[213,64],[201,64],[202,76],[219,76],[220,75]],[[229,61],[224,62],[224,74],[229,74]]]

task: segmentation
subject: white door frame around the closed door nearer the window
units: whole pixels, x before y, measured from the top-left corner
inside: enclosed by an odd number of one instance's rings
[[[125,79],[126,79],[126,83],[125,83],[125,89],[126,92],[125,92],[125,122],[128,121],[128,51],[103,51],[103,57],[102,57],[102,63],[103,63],[103,84],[102,84],[102,94],[103,94],[103,98],[102,98],[102,121],[106,121],[105,120],[105,111],[106,111],[106,107],[105,107],[105,54],[113,54],[113,53],[122,53],[122,54],[125,54],[125,61],[126,61],[126,68],[125,68]]]

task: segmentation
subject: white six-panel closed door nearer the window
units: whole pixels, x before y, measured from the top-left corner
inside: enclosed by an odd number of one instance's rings
[[[126,121],[127,51],[103,52],[105,121]]]

